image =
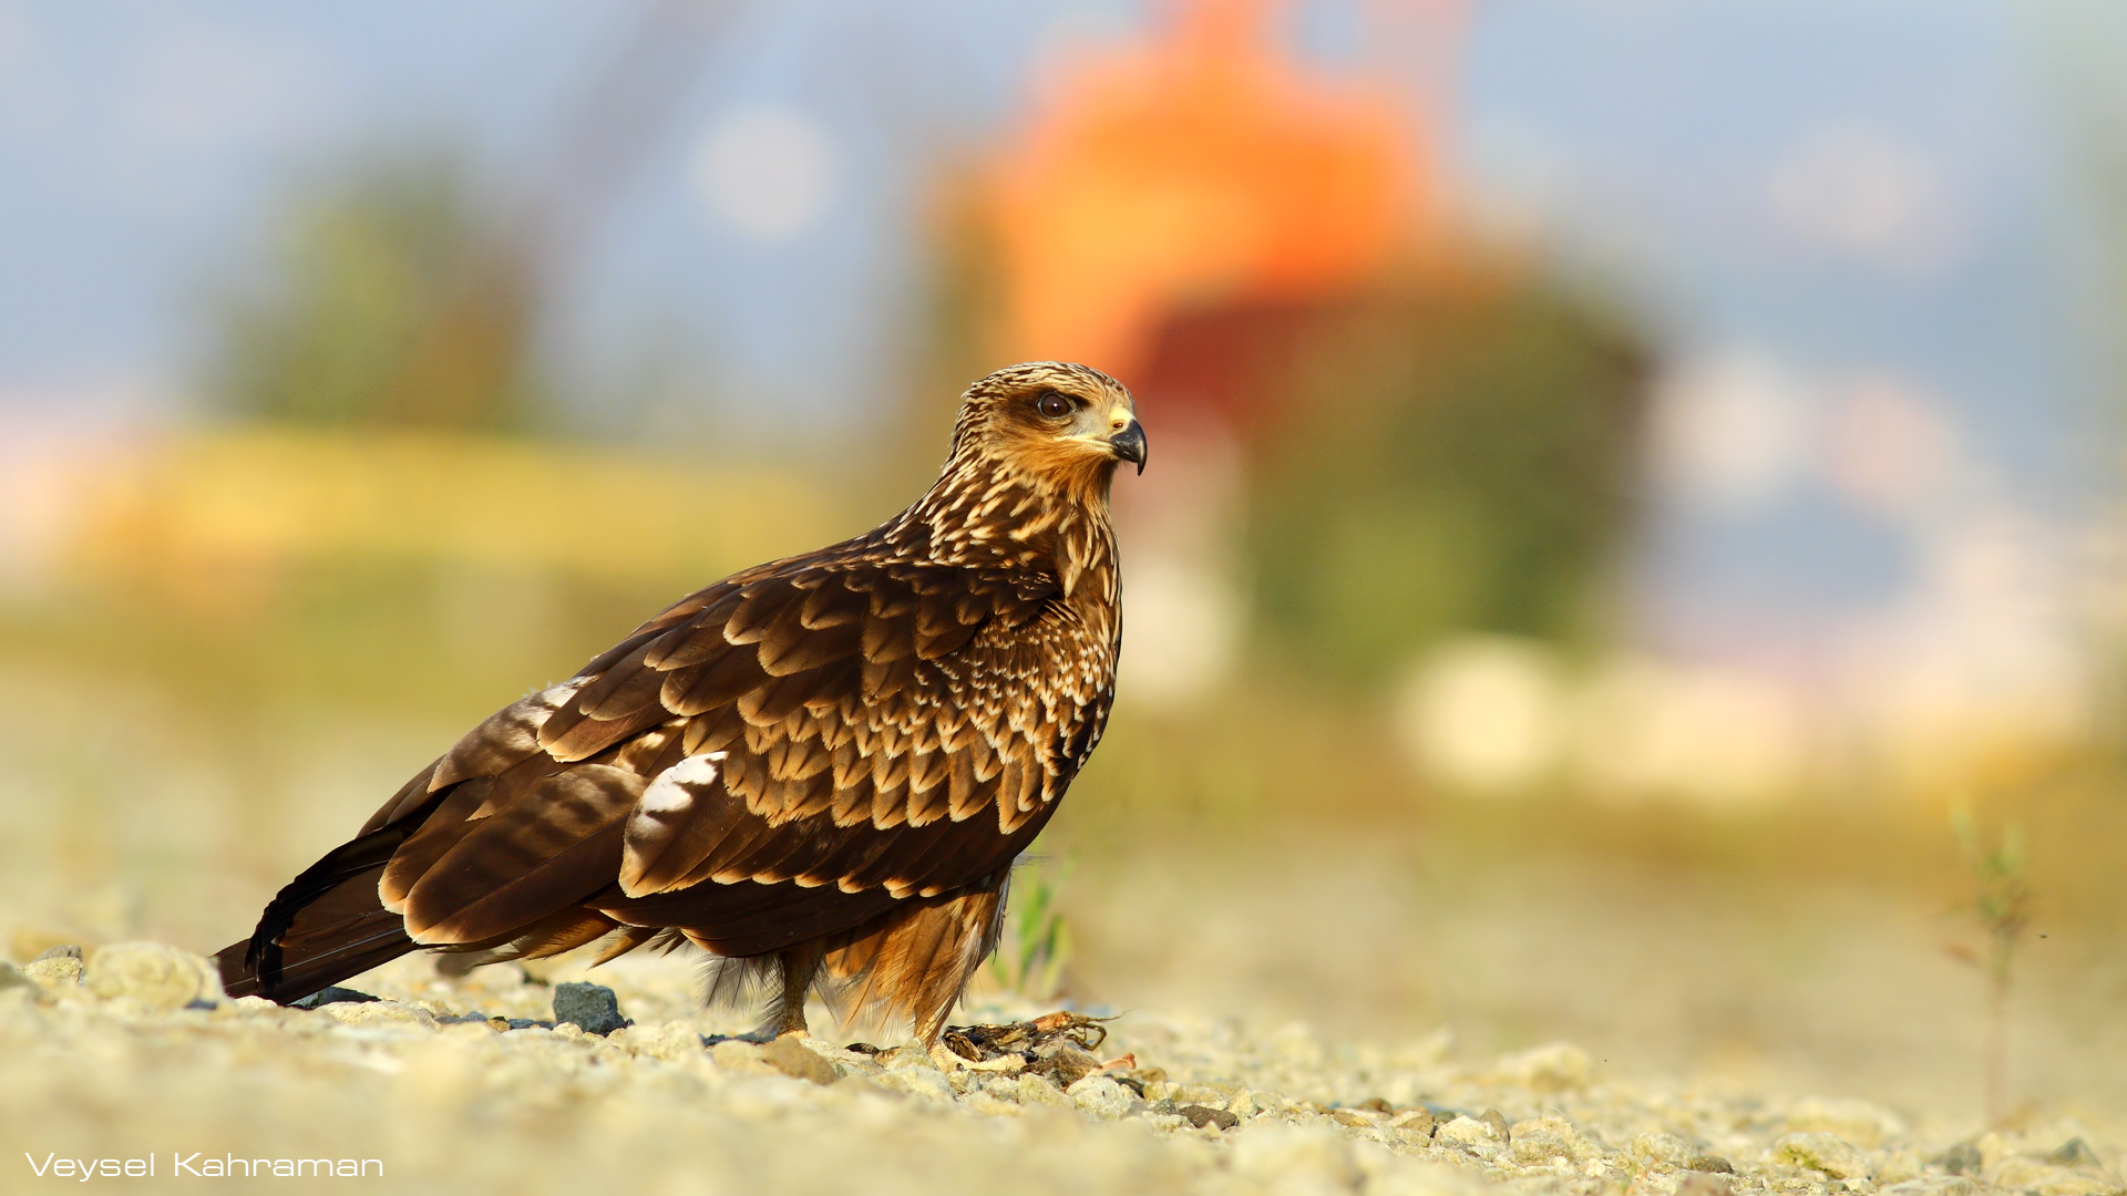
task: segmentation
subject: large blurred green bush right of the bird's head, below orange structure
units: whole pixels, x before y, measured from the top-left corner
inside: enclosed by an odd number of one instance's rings
[[[1540,279],[1410,287],[1319,323],[1259,453],[1266,628],[1363,681],[1453,632],[1593,638],[1646,372],[1638,332]]]

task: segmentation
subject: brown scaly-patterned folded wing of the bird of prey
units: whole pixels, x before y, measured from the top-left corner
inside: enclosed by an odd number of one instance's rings
[[[447,796],[379,892],[425,945],[574,904],[734,956],[849,930],[1010,864],[1100,736],[1108,653],[1046,577],[749,570],[408,783],[366,830]]]

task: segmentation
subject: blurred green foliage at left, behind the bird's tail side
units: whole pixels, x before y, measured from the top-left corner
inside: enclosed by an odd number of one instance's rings
[[[523,428],[534,279],[500,228],[445,151],[296,187],[264,272],[219,304],[206,396],[259,421]]]

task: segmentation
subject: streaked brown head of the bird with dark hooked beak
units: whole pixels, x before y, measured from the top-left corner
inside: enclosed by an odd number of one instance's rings
[[[1087,366],[1027,362],[968,387],[947,468],[1106,498],[1121,462],[1144,472],[1144,428],[1123,383]]]

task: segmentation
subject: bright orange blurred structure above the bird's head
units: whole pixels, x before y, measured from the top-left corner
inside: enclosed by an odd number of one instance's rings
[[[1438,223],[1410,98],[1270,36],[1280,0],[1180,0],[1061,64],[998,166],[1010,358],[1125,379],[1185,309],[1349,294]]]

